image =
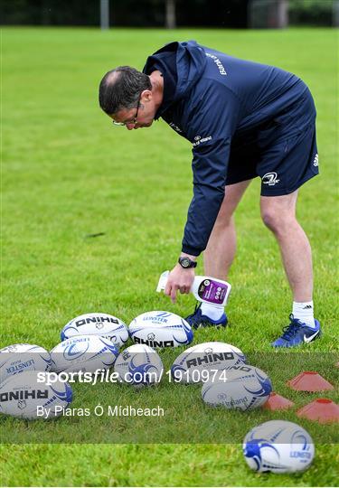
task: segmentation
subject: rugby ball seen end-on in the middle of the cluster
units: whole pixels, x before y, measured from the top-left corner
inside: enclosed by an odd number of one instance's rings
[[[120,352],[114,364],[121,382],[142,387],[160,382],[164,366],[159,354],[145,344],[134,344]]]

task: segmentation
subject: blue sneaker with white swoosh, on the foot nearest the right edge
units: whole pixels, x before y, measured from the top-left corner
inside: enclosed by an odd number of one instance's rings
[[[320,324],[316,319],[315,328],[295,319],[293,314],[289,315],[289,320],[291,323],[283,328],[281,337],[271,344],[273,347],[295,347],[303,343],[312,343],[321,336]]]

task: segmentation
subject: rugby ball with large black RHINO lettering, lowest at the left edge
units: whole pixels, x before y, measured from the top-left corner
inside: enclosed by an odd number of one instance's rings
[[[58,417],[62,408],[71,403],[71,386],[56,380],[52,385],[40,382],[39,371],[24,371],[8,377],[0,385],[0,412],[19,418],[41,418],[38,412],[47,412],[47,418]]]

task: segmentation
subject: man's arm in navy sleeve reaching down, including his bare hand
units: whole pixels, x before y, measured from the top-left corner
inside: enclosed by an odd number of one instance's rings
[[[184,228],[182,256],[195,260],[206,248],[223,200],[231,137],[240,114],[239,100],[222,85],[210,84],[190,117],[193,142],[193,200]],[[180,264],[171,271],[165,295],[175,301],[177,290],[189,293],[194,268]]]

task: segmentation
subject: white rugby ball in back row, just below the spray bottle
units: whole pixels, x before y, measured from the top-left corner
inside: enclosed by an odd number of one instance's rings
[[[177,347],[193,341],[191,325],[171,312],[146,312],[129,324],[129,335],[137,344],[150,347]]]

